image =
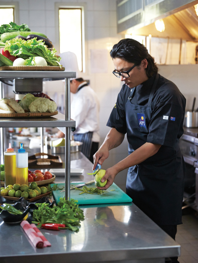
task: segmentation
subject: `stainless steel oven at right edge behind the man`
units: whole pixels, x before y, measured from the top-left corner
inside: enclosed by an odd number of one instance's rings
[[[180,149],[186,164],[184,206],[198,211],[198,128],[184,128]]]

